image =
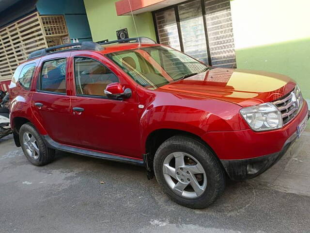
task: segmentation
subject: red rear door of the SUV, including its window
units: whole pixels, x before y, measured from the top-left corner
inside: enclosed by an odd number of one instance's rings
[[[37,90],[31,108],[47,134],[59,143],[74,145],[78,136],[72,133],[70,88],[67,84],[70,52],[48,55],[40,61]]]

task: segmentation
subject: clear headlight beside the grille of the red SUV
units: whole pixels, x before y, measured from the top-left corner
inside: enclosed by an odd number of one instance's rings
[[[254,131],[279,129],[283,126],[282,116],[272,103],[263,103],[240,109],[240,113]]]

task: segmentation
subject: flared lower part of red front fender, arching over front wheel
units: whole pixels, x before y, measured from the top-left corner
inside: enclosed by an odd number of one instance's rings
[[[239,111],[226,108],[223,112],[226,113],[226,118],[185,106],[162,105],[148,108],[140,117],[141,145],[145,145],[152,132],[160,129],[181,130],[203,138],[207,132],[233,131],[243,126]]]

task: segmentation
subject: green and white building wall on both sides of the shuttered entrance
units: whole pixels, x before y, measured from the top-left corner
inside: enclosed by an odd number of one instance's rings
[[[131,16],[117,16],[117,0],[84,0],[93,40],[114,40]],[[282,73],[299,83],[310,102],[310,0],[231,0],[238,68]],[[152,13],[135,16],[138,33],[155,39]]]

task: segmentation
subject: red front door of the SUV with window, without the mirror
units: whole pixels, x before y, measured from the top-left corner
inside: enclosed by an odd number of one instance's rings
[[[72,116],[81,147],[128,157],[141,158],[140,128],[136,90],[126,100],[111,100],[104,94],[109,83],[129,87],[120,75],[106,65],[107,59],[74,56],[76,95],[72,97]]]

